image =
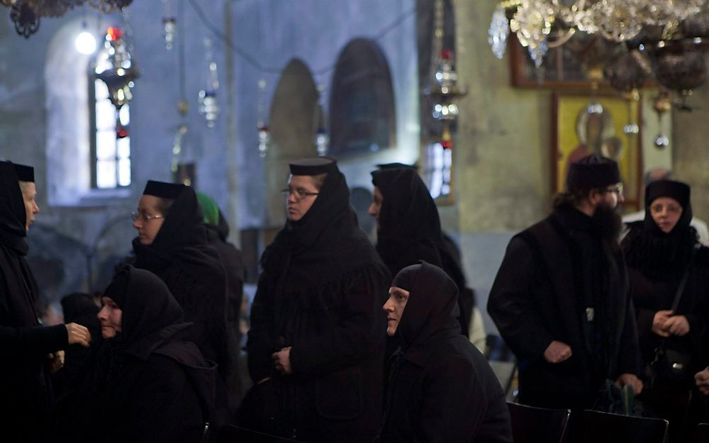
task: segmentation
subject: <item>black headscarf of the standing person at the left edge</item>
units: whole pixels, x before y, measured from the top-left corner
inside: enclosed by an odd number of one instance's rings
[[[23,255],[28,250],[26,222],[25,202],[15,165],[0,162],[0,241]]]

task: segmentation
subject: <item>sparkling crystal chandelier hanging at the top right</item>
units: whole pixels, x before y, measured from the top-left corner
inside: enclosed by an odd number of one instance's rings
[[[596,40],[596,48],[602,50],[593,51],[591,65],[613,88],[627,93],[654,77],[684,98],[709,76],[708,3],[506,0],[493,12],[488,41],[494,54],[502,58],[510,33],[515,33],[535,65],[541,67],[550,48],[579,38]],[[589,64],[584,54],[576,55],[582,64]]]

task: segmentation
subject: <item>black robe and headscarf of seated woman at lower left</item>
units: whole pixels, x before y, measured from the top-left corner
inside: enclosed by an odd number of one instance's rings
[[[186,340],[167,286],[128,267],[122,332],[99,340],[58,403],[55,441],[194,443],[213,413],[216,368]]]

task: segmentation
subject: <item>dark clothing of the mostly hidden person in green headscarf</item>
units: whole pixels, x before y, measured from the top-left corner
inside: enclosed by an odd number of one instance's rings
[[[227,242],[229,225],[219,211],[219,224],[205,223],[207,243],[219,253],[227,282],[227,333],[229,374],[225,382],[228,390],[230,412],[235,412],[245,393],[245,386],[240,378],[239,354],[241,352],[241,303],[244,299],[245,268],[241,251]],[[231,415],[231,414],[230,414]]]

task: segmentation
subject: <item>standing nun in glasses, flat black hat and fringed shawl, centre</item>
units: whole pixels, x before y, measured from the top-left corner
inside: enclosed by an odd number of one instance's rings
[[[263,254],[247,349],[245,427],[367,442],[381,420],[389,273],[357,226],[334,159],[290,164],[288,220]]]

